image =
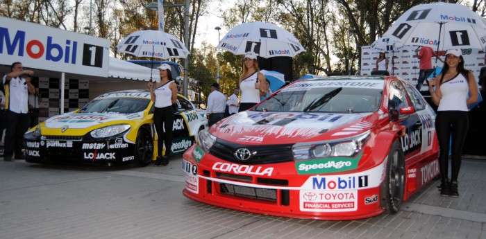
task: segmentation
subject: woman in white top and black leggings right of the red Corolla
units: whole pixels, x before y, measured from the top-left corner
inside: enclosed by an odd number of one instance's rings
[[[462,145],[466,139],[469,121],[468,107],[478,101],[478,87],[471,71],[464,69],[461,50],[446,52],[442,73],[428,82],[433,103],[438,105],[435,131],[439,140],[439,167],[442,183],[440,195],[459,197],[458,175],[461,166]],[[434,89],[435,86],[435,89]],[[471,96],[468,96],[471,93]],[[451,143],[451,181],[449,182],[449,142]]]

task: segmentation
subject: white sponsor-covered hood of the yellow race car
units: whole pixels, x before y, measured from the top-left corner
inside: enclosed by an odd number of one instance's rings
[[[142,118],[142,113],[143,112],[138,112],[134,114],[74,114],[72,112],[69,112],[47,119],[47,121],[45,122],[45,127],[60,128],[68,126],[70,129],[83,129],[112,121],[131,121],[135,118]]]

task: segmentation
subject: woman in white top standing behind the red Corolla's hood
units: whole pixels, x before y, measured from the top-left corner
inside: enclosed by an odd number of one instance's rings
[[[260,91],[262,91],[262,84],[260,83],[263,82],[263,80],[265,80],[265,76],[263,76],[258,69],[256,54],[247,52],[244,54],[243,74],[240,76],[239,85],[242,97],[238,112],[250,109],[260,103]]]

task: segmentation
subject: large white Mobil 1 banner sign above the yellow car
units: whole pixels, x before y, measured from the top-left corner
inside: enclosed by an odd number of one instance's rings
[[[0,17],[0,64],[108,77],[108,39]]]

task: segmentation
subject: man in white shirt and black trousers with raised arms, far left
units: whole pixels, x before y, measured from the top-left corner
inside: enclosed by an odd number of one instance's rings
[[[28,93],[35,94],[35,87],[31,84],[34,72],[24,70],[22,63],[14,62],[10,67],[12,72],[3,76],[5,85],[5,151],[3,160],[13,161],[22,159],[22,143],[24,133],[28,128]]]

